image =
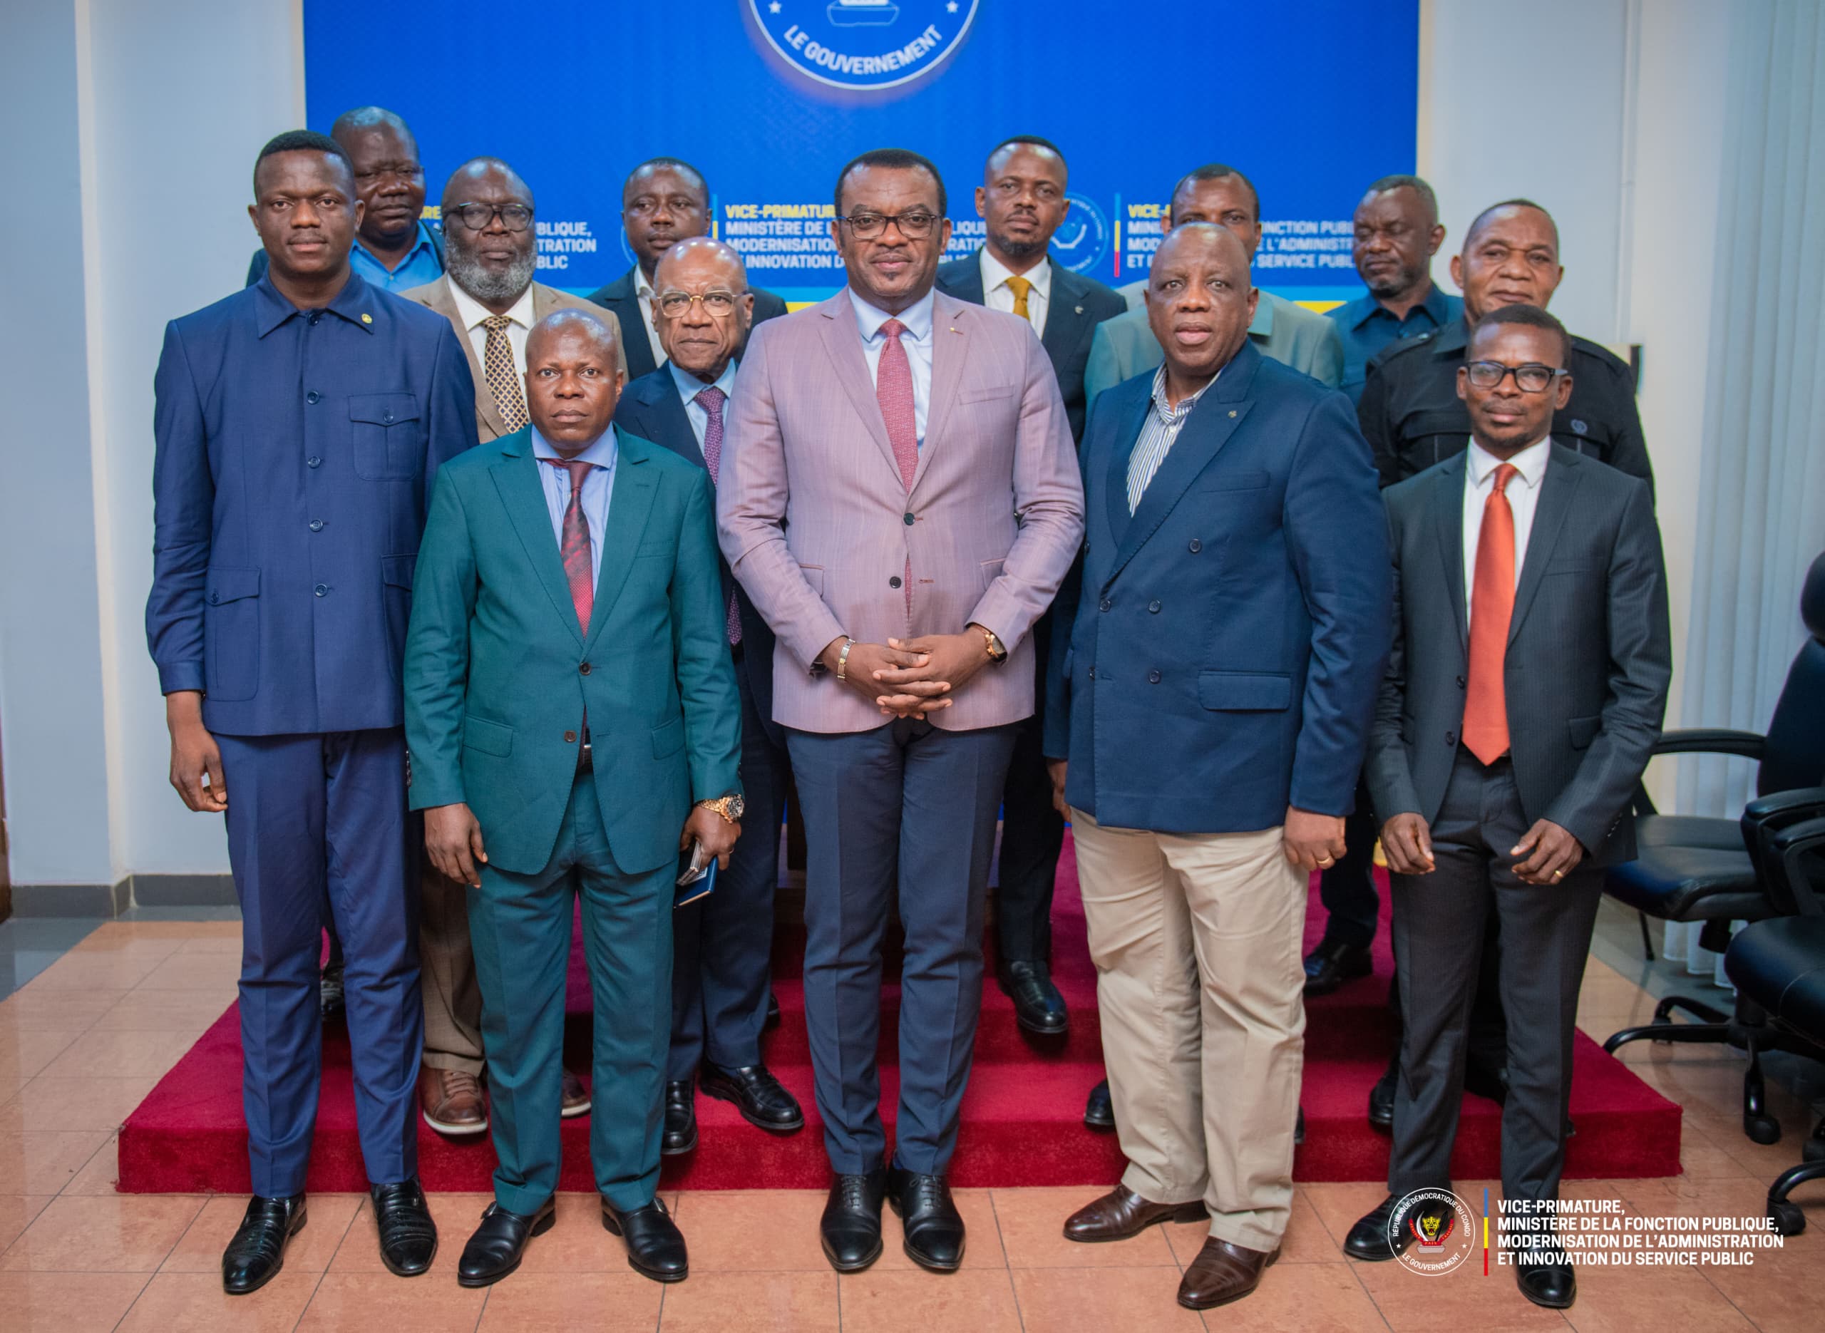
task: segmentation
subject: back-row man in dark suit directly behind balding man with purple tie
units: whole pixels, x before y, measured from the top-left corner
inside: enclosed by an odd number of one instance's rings
[[[633,250],[633,267],[608,287],[589,292],[589,299],[604,310],[613,310],[624,329],[644,329],[646,338],[633,336],[622,356],[628,362],[630,382],[652,374],[664,360],[659,341],[659,321],[653,314],[653,272],[659,257],[679,241],[710,234],[710,186],[703,172],[677,157],[653,157],[641,163],[620,186],[620,225]],[[754,323],[774,320],[787,312],[787,303],[759,287],[754,296]]]

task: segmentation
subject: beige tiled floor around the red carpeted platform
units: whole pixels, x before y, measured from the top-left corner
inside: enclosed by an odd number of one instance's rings
[[[1818,1329],[1825,1284],[1825,1191],[1805,1187],[1812,1227],[1748,1269],[1584,1269],[1570,1315],[1529,1306],[1506,1275],[1475,1265],[1420,1278],[1354,1264],[1340,1242],[1382,1198],[1372,1183],[1305,1185],[1281,1262],[1245,1302],[1199,1317],[1173,1304],[1203,1229],[1175,1225],[1117,1245],[1069,1245],[1064,1216],[1093,1191],[960,1191],[964,1271],[933,1276],[900,1253],[836,1276],[818,1249],[821,1194],[701,1192],[673,1200],[692,1278],[659,1287],[628,1271],[589,1196],[562,1196],[558,1225],[526,1267],[489,1291],[451,1269],[485,1205],[433,1196],[443,1234],[434,1271],[387,1275],[367,1200],[310,1198],[285,1273],[256,1296],[221,1293],[221,1247],[245,1200],[113,1191],[113,1128],[234,995],[239,926],[108,924],[18,995],[0,1001],[0,1328],[5,1329],[896,1329],[911,1333],[1126,1333],[1128,1329]],[[1586,973],[1580,1023],[1608,1035],[1652,999],[1602,962]],[[1712,1046],[1624,1048],[1630,1065],[1683,1103],[1684,1174],[1573,1181],[1566,1194],[1621,1198],[1639,1214],[1756,1216],[1768,1181],[1798,1161],[1805,1107],[1770,1086],[1787,1130],[1750,1143],[1737,1123],[1741,1059]],[[1484,1181],[1464,1181],[1480,1196]]]

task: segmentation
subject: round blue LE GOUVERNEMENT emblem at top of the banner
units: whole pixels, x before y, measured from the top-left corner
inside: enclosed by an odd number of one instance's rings
[[[885,91],[931,79],[982,0],[748,0],[774,55],[827,88]]]

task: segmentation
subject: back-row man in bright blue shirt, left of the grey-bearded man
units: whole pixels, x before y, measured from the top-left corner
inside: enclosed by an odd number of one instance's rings
[[[383,106],[358,106],[336,117],[330,139],[354,163],[354,192],[361,201],[349,267],[383,292],[402,296],[442,274],[443,241],[422,217],[425,168],[405,121]],[[266,252],[256,250],[246,285],[265,272]]]

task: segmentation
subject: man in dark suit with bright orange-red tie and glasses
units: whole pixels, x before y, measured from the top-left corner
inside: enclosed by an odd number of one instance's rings
[[[1413,1244],[1409,1194],[1451,1187],[1491,917],[1515,1019],[1502,1194],[1557,1200],[1602,867],[1635,855],[1632,798],[1672,676],[1653,495],[1553,438],[1577,394],[1573,340],[1538,307],[1502,305],[1464,356],[1469,447],[1383,493],[1394,646],[1367,772],[1405,1030],[1389,1196],[1345,1240],[1361,1260]],[[1513,1256],[1522,1295],[1562,1309],[1571,1265],[1549,1218],[1535,1222],[1546,1229],[1506,1227],[1504,1247],[1531,1251]]]

